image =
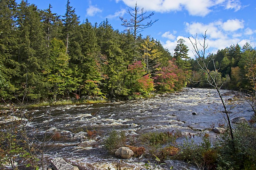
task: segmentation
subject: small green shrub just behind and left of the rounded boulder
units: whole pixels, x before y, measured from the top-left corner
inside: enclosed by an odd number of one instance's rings
[[[104,141],[104,146],[109,152],[115,152],[116,149],[125,145],[126,136],[125,132],[117,132],[112,130],[109,136]]]

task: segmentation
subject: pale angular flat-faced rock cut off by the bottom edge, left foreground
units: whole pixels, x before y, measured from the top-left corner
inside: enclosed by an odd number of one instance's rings
[[[79,170],[78,167],[73,166],[66,162],[63,158],[55,158],[51,160],[53,170]]]

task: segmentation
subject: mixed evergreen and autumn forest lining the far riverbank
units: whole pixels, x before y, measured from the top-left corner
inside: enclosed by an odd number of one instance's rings
[[[64,16],[51,8],[0,1],[2,101],[128,100],[210,87],[183,39],[172,55],[160,41],[132,29],[115,30],[108,19],[81,23],[69,0]],[[206,69],[218,71],[222,88],[255,88],[255,48],[249,43],[218,50],[205,62]]]

